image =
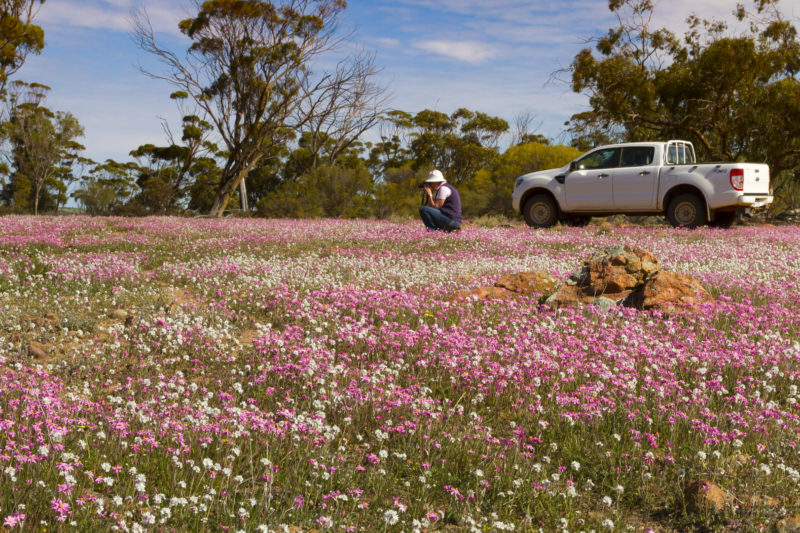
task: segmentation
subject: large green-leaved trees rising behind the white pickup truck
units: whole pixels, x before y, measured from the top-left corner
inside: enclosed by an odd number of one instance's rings
[[[609,3],[619,25],[572,63],[572,88],[592,110],[572,117],[575,145],[686,138],[706,160],[800,167],[800,39],[778,2],[739,6],[750,32],[687,19],[684,39],[648,27],[653,3]]]

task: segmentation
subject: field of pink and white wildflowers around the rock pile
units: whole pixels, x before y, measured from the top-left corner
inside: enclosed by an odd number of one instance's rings
[[[453,299],[611,244],[716,301]],[[0,218],[0,530],[772,530],[799,271],[788,226]]]

